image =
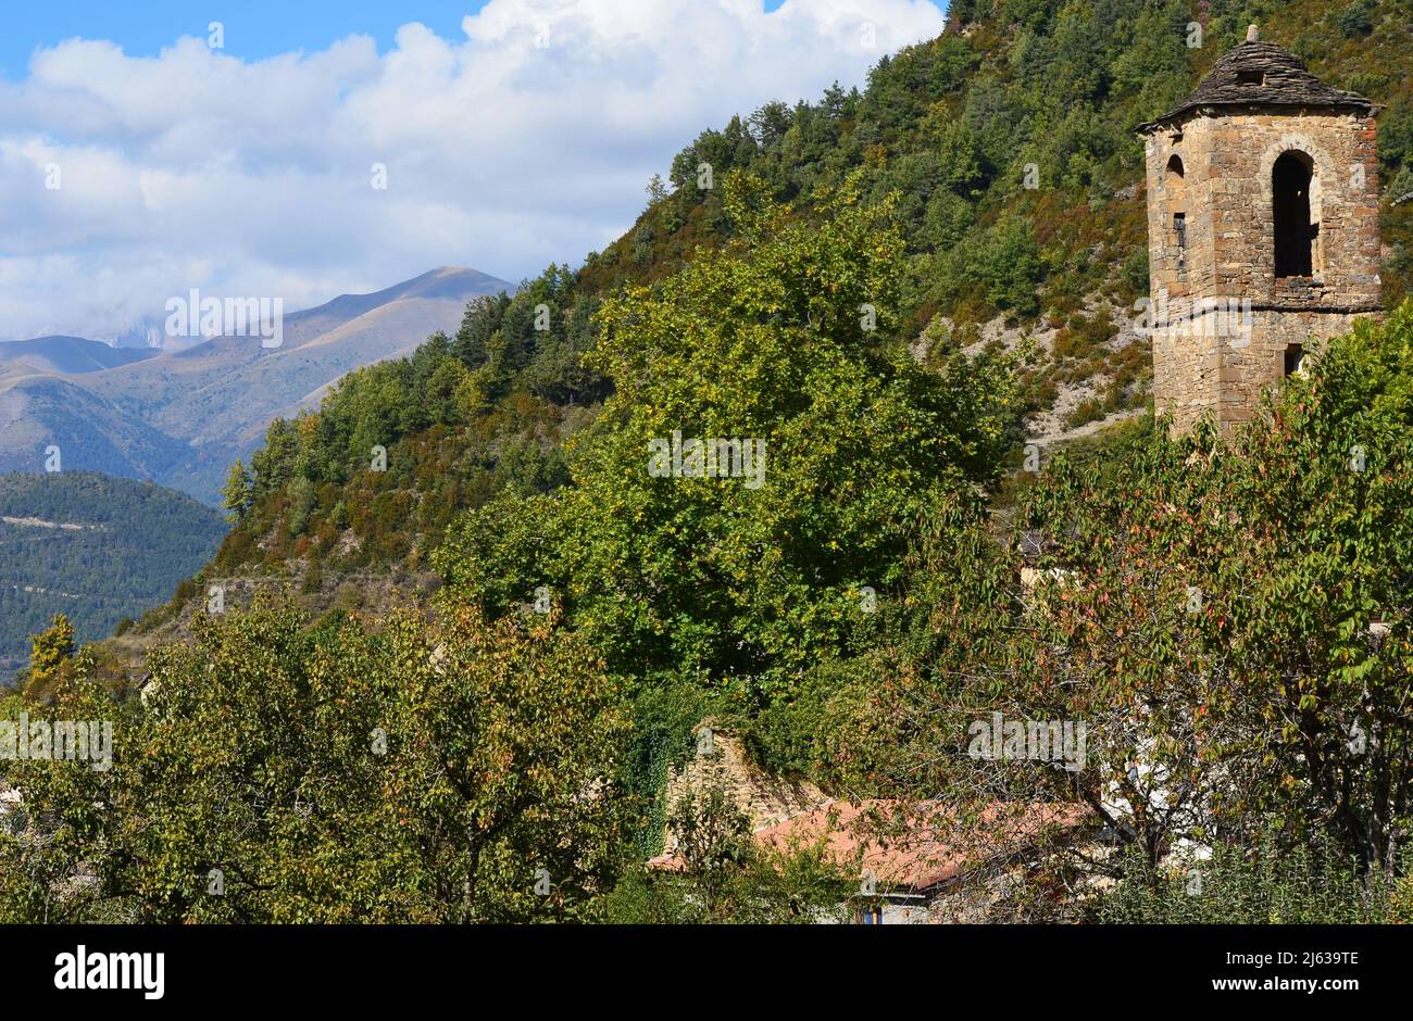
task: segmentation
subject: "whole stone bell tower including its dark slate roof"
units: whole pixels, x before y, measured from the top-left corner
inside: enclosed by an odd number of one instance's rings
[[[1248,421],[1262,388],[1381,309],[1375,116],[1252,25],[1140,126],[1153,400],[1176,431]]]

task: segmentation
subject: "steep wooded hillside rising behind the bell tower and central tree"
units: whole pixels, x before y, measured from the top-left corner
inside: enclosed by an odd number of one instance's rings
[[[284,569],[294,558],[365,566],[414,551],[420,562],[455,511],[506,484],[562,483],[558,441],[608,393],[579,363],[599,332],[593,312],[623,284],[660,280],[738,236],[722,184],[733,171],[801,215],[846,178],[870,205],[894,193],[900,275],[875,339],[940,362],[1006,323],[1012,347],[1036,336],[1015,438],[1067,384],[1088,394],[1071,425],[1139,410],[1152,366],[1125,326],[1147,288],[1133,129],[1176,105],[1249,21],[1331,83],[1389,105],[1383,191],[1413,192],[1413,83],[1395,71],[1413,59],[1409,4],[1352,10],[1359,17],[1314,3],[954,4],[954,30],[883,58],[865,90],[764,103],[704,131],[673,161],[673,189],[654,182],[634,229],[579,270],[550,267],[513,299],[476,301],[455,338],[355,373],[311,419],[277,422],[235,482],[250,513],[215,569]],[[1201,47],[1188,47],[1194,20]],[[698,186],[702,165],[711,188]],[[1386,201],[1385,243],[1392,305],[1413,278],[1413,203]],[[374,446],[390,452],[386,473],[369,470]]]

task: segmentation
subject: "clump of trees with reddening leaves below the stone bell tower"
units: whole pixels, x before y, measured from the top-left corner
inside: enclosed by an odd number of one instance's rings
[[[924,547],[869,729],[832,757],[972,804],[1087,804],[1150,871],[1275,820],[1286,847],[1328,837],[1392,874],[1413,812],[1410,354],[1405,306],[1226,438],[1056,458],[1022,501],[1029,558],[978,534],[937,576]],[[1082,761],[974,756],[992,713],[1082,724]]]

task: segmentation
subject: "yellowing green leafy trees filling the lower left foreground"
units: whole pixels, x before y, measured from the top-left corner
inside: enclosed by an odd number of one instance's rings
[[[17,771],[28,825],[0,839],[0,916],[569,919],[606,888],[623,717],[581,641],[451,606],[305,626],[280,607],[198,621],[154,654],[141,707],[61,686],[55,713],[122,713],[114,761]]]

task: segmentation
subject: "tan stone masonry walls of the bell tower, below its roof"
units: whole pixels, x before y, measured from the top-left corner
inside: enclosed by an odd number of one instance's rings
[[[1290,150],[1314,162],[1310,215],[1318,234],[1313,275],[1277,280],[1272,168]],[[1174,154],[1183,178],[1167,169]],[[1178,432],[1208,411],[1222,428],[1248,421],[1260,391],[1284,376],[1289,345],[1308,353],[1379,308],[1375,121],[1198,110],[1147,136],[1146,168],[1157,411],[1171,411]],[[1174,212],[1186,213],[1181,251]]]

